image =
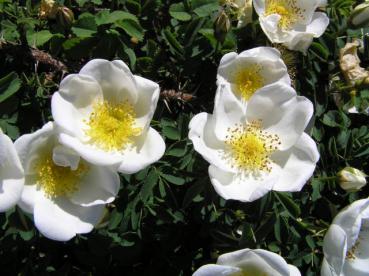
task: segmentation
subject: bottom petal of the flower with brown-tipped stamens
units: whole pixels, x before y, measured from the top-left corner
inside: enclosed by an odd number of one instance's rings
[[[273,168],[269,175],[255,178],[252,175],[239,175],[210,165],[209,176],[214,189],[224,199],[251,202],[273,189],[278,180],[278,168]]]

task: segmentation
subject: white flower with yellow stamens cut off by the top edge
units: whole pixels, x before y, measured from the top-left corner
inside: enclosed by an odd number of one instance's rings
[[[315,10],[321,0],[253,0],[260,26],[273,43],[290,50],[306,52],[314,37],[320,37],[329,24],[325,13]]]

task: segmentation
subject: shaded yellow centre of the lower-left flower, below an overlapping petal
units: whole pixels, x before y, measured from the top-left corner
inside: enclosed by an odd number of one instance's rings
[[[49,198],[66,196],[78,190],[78,183],[88,169],[82,161],[76,170],[58,166],[49,154],[42,157],[37,164],[37,185]]]

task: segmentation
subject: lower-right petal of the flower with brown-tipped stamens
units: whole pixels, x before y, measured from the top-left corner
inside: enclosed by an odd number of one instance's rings
[[[273,190],[297,192],[312,176],[319,160],[319,152],[314,140],[303,133],[292,148],[277,152],[272,159],[282,167]]]

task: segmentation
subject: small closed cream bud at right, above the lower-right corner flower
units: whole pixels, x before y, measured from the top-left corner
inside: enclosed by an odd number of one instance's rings
[[[348,192],[359,191],[366,185],[365,177],[367,175],[352,167],[344,168],[338,172],[337,176],[341,188]]]

